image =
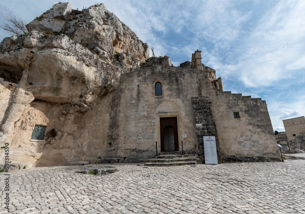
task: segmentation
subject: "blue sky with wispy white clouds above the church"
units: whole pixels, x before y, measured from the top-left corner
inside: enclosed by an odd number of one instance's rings
[[[58,0],[2,0],[2,15],[30,22]],[[104,3],[174,66],[201,50],[224,90],[266,100],[274,130],[305,115],[305,1],[70,1],[73,9]],[[4,22],[3,16],[0,17]],[[7,35],[0,32],[0,40]],[[152,56],[152,53],[150,53]]]

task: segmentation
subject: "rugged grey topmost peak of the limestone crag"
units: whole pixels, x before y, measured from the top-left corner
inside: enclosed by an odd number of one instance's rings
[[[127,53],[142,62],[149,58],[148,45],[139,40],[104,4],[79,11],[71,9],[70,3],[59,3],[26,27],[29,32],[38,30],[45,34],[66,34],[104,61],[113,59],[115,52]]]

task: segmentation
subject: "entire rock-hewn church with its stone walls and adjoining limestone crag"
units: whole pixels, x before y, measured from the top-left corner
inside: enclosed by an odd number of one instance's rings
[[[27,28],[0,45],[0,143],[13,162],[142,162],[182,143],[203,162],[203,136],[216,137],[219,162],[278,157],[266,102],[224,91],[200,51],[180,67],[149,58],[103,4],[59,3]]]

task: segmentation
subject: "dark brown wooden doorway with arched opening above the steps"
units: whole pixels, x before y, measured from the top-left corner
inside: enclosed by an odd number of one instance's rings
[[[179,151],[177,117],[160,118],[161,152]]]

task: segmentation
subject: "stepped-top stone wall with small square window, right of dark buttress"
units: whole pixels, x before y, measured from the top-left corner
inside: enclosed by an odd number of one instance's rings
[[[220,153],[236,156],[277,156],[267,104],[230,91],[210,91]],[[214,94],[214,95],[213,95]],[[239,112],[234,118],[233,112]]]

